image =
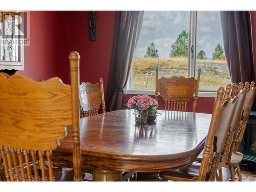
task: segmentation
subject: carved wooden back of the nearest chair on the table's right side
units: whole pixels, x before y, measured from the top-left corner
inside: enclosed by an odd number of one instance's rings
[[[199,170],[199,181],[214,181],[217,169],[220,167],[221,155],[232,116],[237,106],[238,98],[225,101],[222,105],[224,88],[219,88],[212,111],[208,135],[205,142],[203,159]]]

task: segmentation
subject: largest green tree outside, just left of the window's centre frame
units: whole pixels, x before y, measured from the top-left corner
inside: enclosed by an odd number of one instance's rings
[[[183,30],[172,45],[170,57],[188,57],[188,31]]]

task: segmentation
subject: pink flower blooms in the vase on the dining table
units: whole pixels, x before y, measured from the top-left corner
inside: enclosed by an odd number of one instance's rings
[[[153,99],[148,95],[138,95],[131,97],[127,102],[127,106],[129,109],[137,109],[141,112],[146,110],[157,112],[156,108],[158,106],[158,102],[156,99]]]

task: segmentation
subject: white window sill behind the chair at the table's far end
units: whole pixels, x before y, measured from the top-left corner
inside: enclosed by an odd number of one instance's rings
[[[141,90],[141,89],[133,89],[133,90],[125,90],[124,94],[131,95],[155,95],[155,90]],[[205,92],[199,91],[198,97],[216,97],[217,92]]]

